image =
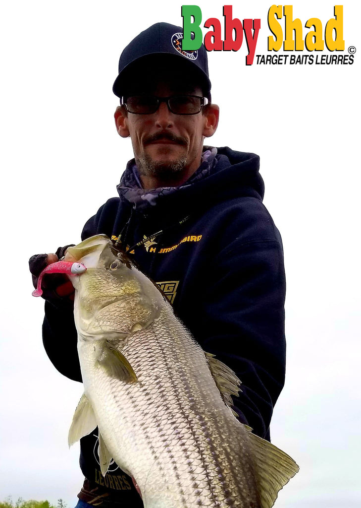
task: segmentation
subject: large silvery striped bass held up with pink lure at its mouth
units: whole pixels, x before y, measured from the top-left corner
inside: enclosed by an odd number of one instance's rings
[[[298,466],[237,420],[234,372],[105,235],[65,261],[87,268],[71,279],[84,395],[69,446],[98,426],[102,474],[114,459],[146,508],[270,508]]]

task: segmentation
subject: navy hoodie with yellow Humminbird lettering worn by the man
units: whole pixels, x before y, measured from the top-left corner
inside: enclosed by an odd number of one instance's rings
[[[129,249],[204,351],[236,372],[242,391],[235,410],[269,439],[284,383],[282,242],[262,204],[258,155],[228,147],[206,153],[188,182],[157,191],[141,189],[134,160],[128,163],[120,197],[88,220],[82,239],[104,233]],[[61,302],[46,302],[45,309],[48,356],[62,374],[81,381],[72,309]],[[92,434],[81,440],[81,467],[99,483],[94,440]]]

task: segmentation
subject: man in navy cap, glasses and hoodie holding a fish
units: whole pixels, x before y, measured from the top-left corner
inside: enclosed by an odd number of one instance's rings
[[[168,296],[203,349],[242,381],[239,419],[269,439],[273,405],[284,381],[284,270],[281,239],[262,204],[259,157],[203,145],[214,134],[207,56],[181,49],[182,28],[157,23],[123,51],[113,91],[118,134],[134,159],[119,198],[100,207],[82,239],[105,233],[128,250]],[[46,263],[30,259],[37,280]],[[81,380],[69,282],[48,276],[44,345],[55,367]],[[81,440],[83,506],[142,506],[117,464],[103,478],[97,432]]]

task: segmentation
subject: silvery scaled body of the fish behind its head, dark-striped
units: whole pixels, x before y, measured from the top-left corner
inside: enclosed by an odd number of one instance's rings
[[[79,347],[85,394],[146,508],[260,506],[248,432],[223,402],[202,349],[169,311],[122,347],[138,383],[110,377],[93,350]]]

